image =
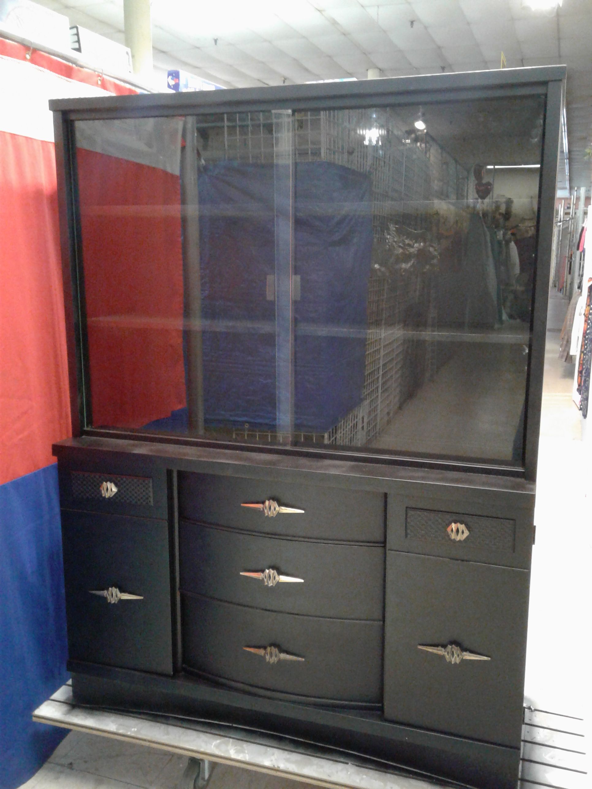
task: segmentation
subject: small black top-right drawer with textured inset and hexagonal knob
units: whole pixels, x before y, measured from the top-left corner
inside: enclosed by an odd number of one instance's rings
[[[389,496],[388,548],[505,567],[530,567],[532,510],[499,503]]]

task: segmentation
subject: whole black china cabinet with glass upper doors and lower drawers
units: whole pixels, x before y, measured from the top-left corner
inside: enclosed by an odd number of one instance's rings
[[[515,789],[563,80],[51,104],[75,700]]]

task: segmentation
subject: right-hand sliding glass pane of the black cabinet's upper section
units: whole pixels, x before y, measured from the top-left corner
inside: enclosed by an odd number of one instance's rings
[[[296,114],[296,443],[522,465],[543,114]]]

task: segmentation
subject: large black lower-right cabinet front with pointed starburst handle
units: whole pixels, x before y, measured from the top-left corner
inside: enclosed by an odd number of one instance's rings
[[[526,570],[388,552],[384,717],[518,748],[528,589]]]

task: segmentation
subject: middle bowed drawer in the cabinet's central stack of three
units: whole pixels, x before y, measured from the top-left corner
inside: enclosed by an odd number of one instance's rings
[[[381,546],[262,537],[186,521],[179,524],[179,546],[184,592],[270,611],[383,619]],[[266,580],[242,575],[265,570],[271,571]],[[302,581],[278,581],[273,570]]]

